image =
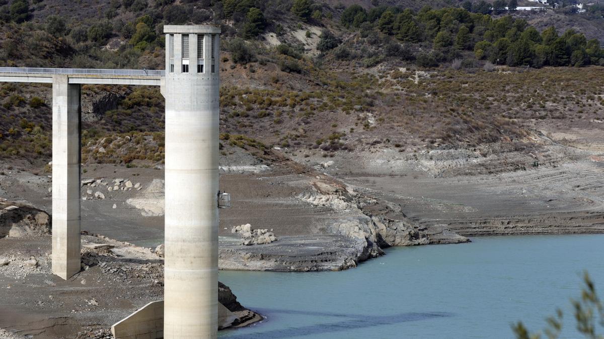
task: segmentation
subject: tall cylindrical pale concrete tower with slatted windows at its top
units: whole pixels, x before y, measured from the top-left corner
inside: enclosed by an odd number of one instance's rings
[[[164,33],[164,338],[216,338],[220,28]]]

